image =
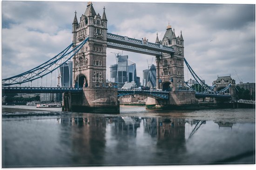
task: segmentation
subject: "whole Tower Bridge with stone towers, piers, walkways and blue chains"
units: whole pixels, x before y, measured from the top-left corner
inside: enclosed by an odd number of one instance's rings
[[[118,96],[141,94],[148,96],[146,105],[161,107],[198,107],[199,97],[230,98],[208,87],[195,74],[184,57],[184,39],[182,31],[176,37],[175,29],[168,25],[160,41],[158,34],[155,43],[148,39],[141,40],[108,33],[108,19],[103,14],[96,14],[92,3],[88,3],[85,13],[78,22],[76,12],[72,23],[72,44],[61,53],[17,76],[2,80],[4,93],[63,93],[65,111],[119,113]],[[106,87],[106,50],[114,48],[155,56],[156,88],[161,90],[119,90]],[[73,88],[25,88],[22,83],[42,79],[73,60]],[[184,87],[184,62],[195,80],[202,85],[206,93],[199,94]],[[20,85],[19,88],[12,87]],[[222,89],[223,91],[223,89]]]

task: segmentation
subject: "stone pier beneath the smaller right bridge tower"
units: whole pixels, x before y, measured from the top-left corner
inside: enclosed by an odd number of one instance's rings
[[[146,102],[147,109],[196,109],[199,102],[195,98],[193,91],[174,91],[169,92],[168,100],[157,100],[148,97]]]

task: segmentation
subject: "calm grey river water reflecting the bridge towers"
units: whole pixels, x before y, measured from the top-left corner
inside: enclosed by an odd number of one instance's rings
[[[255,164],[254,109],[120,112],[2,113],[2,167]]]

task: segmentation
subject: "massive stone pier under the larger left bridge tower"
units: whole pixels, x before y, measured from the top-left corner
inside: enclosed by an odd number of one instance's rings
[[[80,93],[64,93],[62,111],[119,114],[117,88],[83,88]]]

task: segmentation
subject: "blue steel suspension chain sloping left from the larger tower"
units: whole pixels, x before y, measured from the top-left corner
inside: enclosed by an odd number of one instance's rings
[[[77,45],[73,50],[67,52],[72,47],[72,44],[70,44],[65,50],[63,50],[57,56],[41,64],[40,66],[35,67],[34,69],[30,69],[19,75],[3,79],[2,86],[10,86],[25,82],[32,82],[33,80],[36,80],[40,77],[46,76],[49,73],[52,73],[54,70],[61,67],[61,65],[69,61],[87,41],[88,38],[81,42],[81,44]]]

